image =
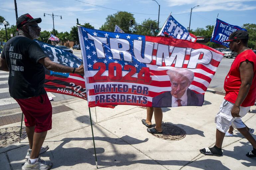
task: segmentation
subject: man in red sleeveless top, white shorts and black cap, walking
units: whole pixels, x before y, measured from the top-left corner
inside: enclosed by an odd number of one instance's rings
[[[230,34],[229,47],[238,53],[225,78],[226,95],[215,117],[216,142],[214,147],[200,149],[204,155],[222,156],[222,142],[230,125],[236,128],[251,144],[253,150],[246,156],[256,157],[256,141],[247,130],[241,118],[254,105],[256,99],[256,55],[247,47],[249,34],[237,30]]]

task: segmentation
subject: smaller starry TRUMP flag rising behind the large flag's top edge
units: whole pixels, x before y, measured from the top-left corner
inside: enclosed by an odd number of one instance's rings
[[[177,39],[186,39],[192,42],[196,42],[196,36],[192,33],[189,33],[189,31],[183,27],[180,23],[178,23],[172,15],[170,15],[165,24],[163,25],[162,29],[159,31],[158,35],[168,35],[172,38]]]

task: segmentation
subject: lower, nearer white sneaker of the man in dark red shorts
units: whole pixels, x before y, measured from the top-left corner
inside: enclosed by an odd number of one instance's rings
[[[22,170],[48,170],[53,166],[52,162],[46,162],[40,157],[37,158],[35,163],[31,163],[28,159],[25,164],[22,166]]]

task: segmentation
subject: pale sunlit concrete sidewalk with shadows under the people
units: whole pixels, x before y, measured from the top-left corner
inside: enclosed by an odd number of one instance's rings
[[[114,109],[91,108],[98,168],[104,170],[253,170],[256,159],[245,156],[252,146],[234,130],[234,137],[225,137],[223,156],[205,156],[199,149],[215,143],[214,117],[223,95],[205,93],[202,107],[163,108],[163,121],[186,132],[181,140],[170,141],[155,137],[141,123],[146,110],[136,106],[118,105]],[[60,102],[52,102],[53,106]],[[53,115],[53,129],[44,144],[50,149],[42,159],[53,162],[55,170],[96,169],[87,102],[81,99],[61,103],[70,111]],[[256,106],[251,107],[243,121],[254,128]],[[153,120],[154,121],[154,120]],[[0,128],[20,126],[20,123]],[[253,135],[255,137],[255,135]],[[25,162],[28,139],[0,148],[0,169],[18,170]]]

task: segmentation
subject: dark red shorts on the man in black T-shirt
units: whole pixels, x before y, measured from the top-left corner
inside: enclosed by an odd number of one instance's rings
[[[15,99],[25,116],[25,125],[35,126],[35,132],[41,133],[52,129],[52,104],[47,93],[27,98]]]

